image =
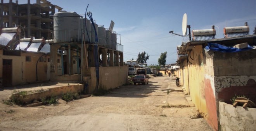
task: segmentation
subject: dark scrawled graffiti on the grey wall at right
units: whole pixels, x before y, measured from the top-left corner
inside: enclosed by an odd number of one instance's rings
[[[227,77],[223,79],[216,80],[216,92],[220,92],[222,88],[232,87],[232,86],[244,86],[240,79]]]

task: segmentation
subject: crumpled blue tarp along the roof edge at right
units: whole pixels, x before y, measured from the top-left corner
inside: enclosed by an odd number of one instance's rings
[[[246,48],[239,49],[239,48],[234,48],[234,47],[227,47],[227,46],[220,45],[217,43],[208,43],[208,46],[206,46],[205,49],[219,51],[219,52],[240,52],[240,51],[253,49],[253,47],[248,45],[248,47],[246,47]]]

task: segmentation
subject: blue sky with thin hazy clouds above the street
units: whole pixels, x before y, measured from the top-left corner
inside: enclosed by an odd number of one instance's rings
[[[182,35],[182,18],[187,13],[187,23],[192,30],[211,29],[215,25],[216,38],[223,38],[224,27],[244,26],[248,22],[250,33],[256,27],[256,0],[48,0],[67,12],[85,17],[92,12],[98,25],[121,35],[124,61],[137,59],[139,52],[149,55],[148,65],[157,65],[161,53],[167,52],[166,64],[177,60],[177,45],[189,40],[170,34]],[[9,2],[9,0],[4,0]],[[15,2],[15,0],[13,0]],[[36,0],[30,0],[36,3]],[[19,0],[19,4],[27,0]],[[88,17],[87,17],[88,18]],[[187,31],[189,34],[189,31]],[[120,43],[119,36],[117,42]]]

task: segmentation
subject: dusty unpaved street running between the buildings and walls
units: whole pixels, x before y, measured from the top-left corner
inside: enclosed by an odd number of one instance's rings
[[[151,76],[152,77],[152,76]],[[57,106],[19,107],[0,103],[0,130],[8,131],[209,131],[185,98],[175,77],[152,77],[105,96]],[[168,91],[170,91],[168,93]],[[2,100],[1,100],[2,101]]]

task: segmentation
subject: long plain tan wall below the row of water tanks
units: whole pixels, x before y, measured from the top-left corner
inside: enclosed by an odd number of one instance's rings
[[[128,66],[99,67],[99,72],[99,88],[116,88],[126,84],[128,81]],[[95,67],[90,67],[89,72],[86,72],[86,76],[90,76],[88,93],[92,93],[96,86]]]

